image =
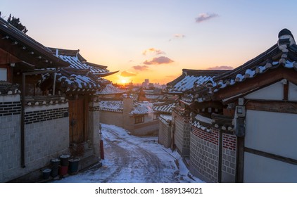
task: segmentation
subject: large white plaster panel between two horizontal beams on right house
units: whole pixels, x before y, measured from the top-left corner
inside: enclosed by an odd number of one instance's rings
[[[245,146],[297,159],[297,114],[247,110]]]

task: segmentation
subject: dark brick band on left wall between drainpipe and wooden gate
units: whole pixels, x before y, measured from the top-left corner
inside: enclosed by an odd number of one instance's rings
[[[25,124],[28,125],[36,122],[68,117],[68,113],[68,108],[29,111],[25,113]]]

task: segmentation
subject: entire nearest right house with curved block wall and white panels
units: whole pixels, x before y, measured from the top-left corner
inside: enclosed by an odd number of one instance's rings
[[[277,44],[213,81],[193,93],[191,172],[207,182],[297,182],[291,32],[282,30]]]

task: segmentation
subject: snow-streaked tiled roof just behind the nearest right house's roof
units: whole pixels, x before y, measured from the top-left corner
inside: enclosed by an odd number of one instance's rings
[[[194,85],[206,84],[213,82],[213,77],[219,75],[222,70],[188,70],[183,69],[182,75],[177,79],[169,82],[167,91],[169,93],[182,93],[193,89]]]

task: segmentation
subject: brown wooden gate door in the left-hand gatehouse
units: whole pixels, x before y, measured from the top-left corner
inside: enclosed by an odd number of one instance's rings
[[[87,141],[87,113],[84,99],[69,100],[68,103],[70,144]]]

